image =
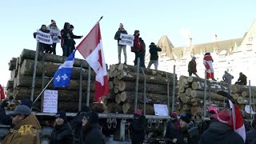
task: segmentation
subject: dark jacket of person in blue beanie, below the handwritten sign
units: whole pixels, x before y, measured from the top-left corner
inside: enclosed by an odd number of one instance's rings
[[[74,134],[69,123],[56,125],[51,133],[50,144],[74,144]]]

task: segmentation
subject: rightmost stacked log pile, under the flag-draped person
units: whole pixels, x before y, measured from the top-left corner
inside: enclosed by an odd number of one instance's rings
[[[206,81],[206,106],[223,108],[228,105],[228,100],[218,95],[219,90],[229,93],[230,85],[225,82]],[[180,101],[179,113],[190,110],[192,114],[202,112],[204,105],[205,80],[198,77],[180,76],[178,81],[178,100]],[[231,85],[231,94],[240,105],[249,104],[249,86]],[[256,87],[251,86],[252,94]],[[253,99],[252,99],[253,102]],[[242,107],[242,106],[241,106]]]

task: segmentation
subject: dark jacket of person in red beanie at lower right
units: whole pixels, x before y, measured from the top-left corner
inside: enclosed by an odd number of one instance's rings
[[[235,133],[229,125],[221,122],[212,122],[198,142],[198,144],[243,144],[242,137]]]

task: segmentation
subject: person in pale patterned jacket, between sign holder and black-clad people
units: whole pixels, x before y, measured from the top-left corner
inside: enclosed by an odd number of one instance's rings
[[[47,29],[50,30],[50,34],[53,38],[52,50],[50,50],[50,53],[53,52],[53,54],[56,54],[56,45],[60,41],[60,38],[61,38],[60,30],[58,29],[58,26],[53,19],[50,20],[50,25],[47,26]]]

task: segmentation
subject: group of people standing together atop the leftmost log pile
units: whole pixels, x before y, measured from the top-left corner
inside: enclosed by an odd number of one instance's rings
[[[56,54],[56,45],[60,41],[63,52],[62,56],[66,57],[68,57],[75,50],[76,42],[74,39],[83,37],[73,34],[74,26],[70,25],[69,22],[65,22],[63,29],[59,30],[56,22],[51,20],[49,26],[42,25],[39,30],[44,33],[49,33],[53,39],[53,44],[49,45],[38,42],[38,51],[49,54]],[[37,32],[34,32],[34,38],[36,38],[37,34]]]

